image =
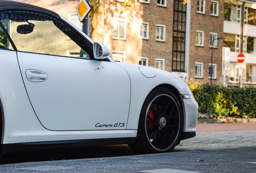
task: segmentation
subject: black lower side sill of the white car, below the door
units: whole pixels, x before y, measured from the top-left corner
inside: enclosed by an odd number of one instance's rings
[[[83,139],[83,140],[70,140],[70,141],[45,141],[45,142],[31,142],[31,143],[1,144],[0,149],[2,149],[2,153],[0,156],[7,153],[15,153],[18,151],[30,151],[30,150],[37,150],[37,149],[55,149],[55,148],[130,144],[130,143],[134,143],[135,139],[136,137],[128,137],[128,138]]]

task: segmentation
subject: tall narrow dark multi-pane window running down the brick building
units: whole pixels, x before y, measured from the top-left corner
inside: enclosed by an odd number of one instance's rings
[[[172,71],[185,72],[186,6],[174,0]]]

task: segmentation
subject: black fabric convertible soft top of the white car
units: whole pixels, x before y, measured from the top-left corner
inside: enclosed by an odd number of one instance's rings
[[[45,8],[33,6],[30,4],[25,4],[22,2],[15,2],[15,1],[10,1],[10,0],[0,0],[0,12],[5,11],[5,10],[26,10],[26,11],[34,11],[34,12],[43,12],[43,13],[55,16],[57,18],[60,18],[60,16],[56,12],[47,10]]]

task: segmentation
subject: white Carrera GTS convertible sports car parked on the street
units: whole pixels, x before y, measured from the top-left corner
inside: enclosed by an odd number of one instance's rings
[[[109,144],[162,153],[196,135],[182,78],[109,55],[55,12],[0,0],[1,155]]]

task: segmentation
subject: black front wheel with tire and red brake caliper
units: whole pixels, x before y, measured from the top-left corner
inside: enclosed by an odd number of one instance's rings
[[[180,141],[183,115],[177,97],[166,88],[156,88],[145,99],[138,122],[137,153],[170,152]]]

